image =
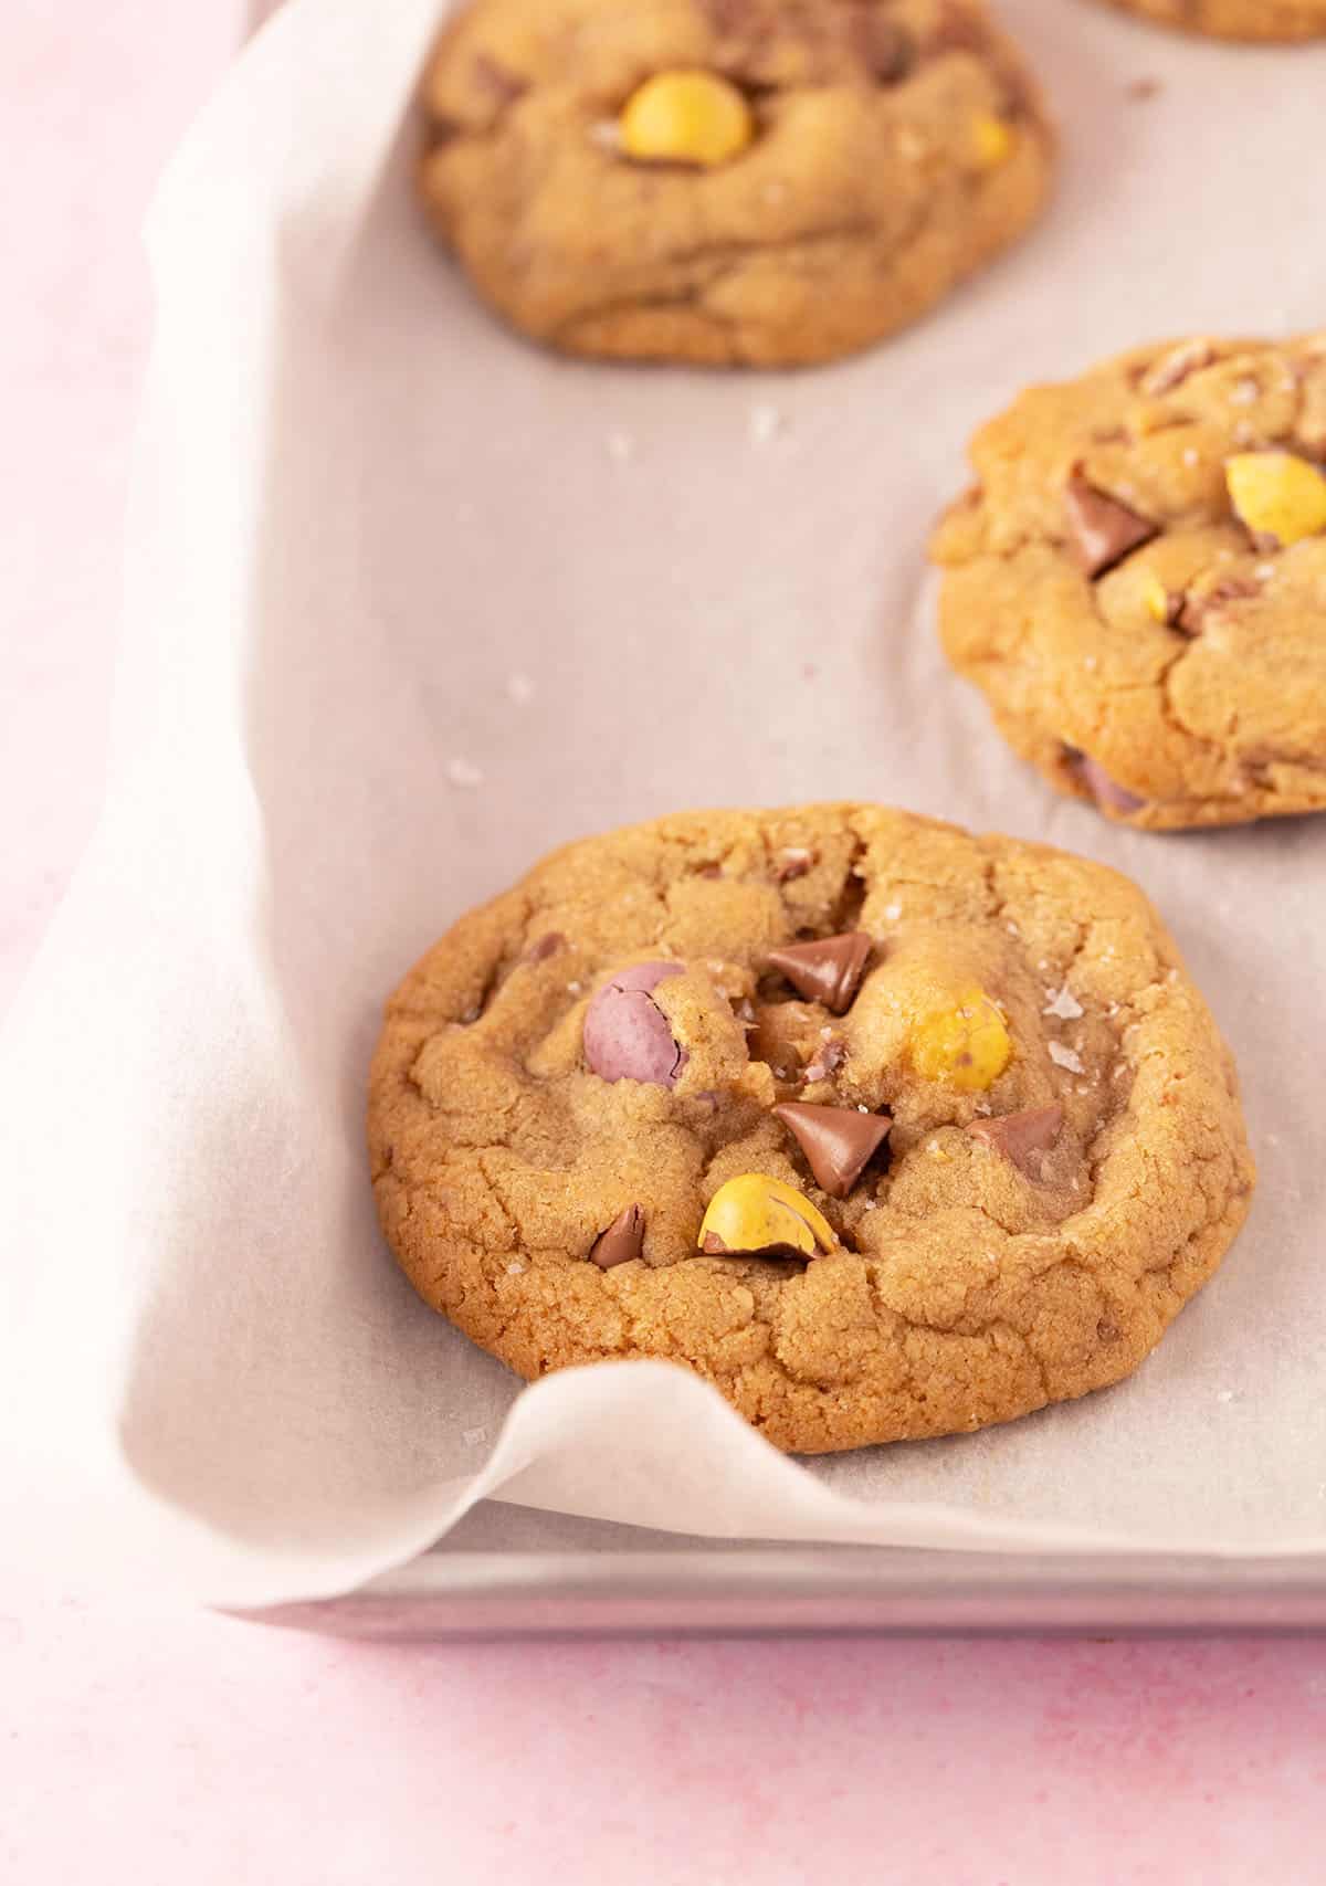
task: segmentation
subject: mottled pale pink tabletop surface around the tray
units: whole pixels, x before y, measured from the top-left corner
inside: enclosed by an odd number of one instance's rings
[[[100,796],[138,224],[240,0],[13,0],[0,1011]],[[0,1877],[1307,1880],[1326,1643],[336,1645],[0,1565]],[[91,1582],[91,1580],[85,1580]]]

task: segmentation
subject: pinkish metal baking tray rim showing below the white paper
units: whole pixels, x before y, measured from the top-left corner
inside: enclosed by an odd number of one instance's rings
[[[281,0],[249,0],[257,30]],[[232,1613],[381,1641],[1326,1630],[1326,1556],[1013,1554],[696,1539],[481,1501],[340,1597]]]

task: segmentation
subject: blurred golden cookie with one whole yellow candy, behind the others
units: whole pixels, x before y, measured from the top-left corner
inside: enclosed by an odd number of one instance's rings
[[[1053,162],[979,0],[477,0],[424,102],[479,292],[609,358],[866,347],[1020,236]]]

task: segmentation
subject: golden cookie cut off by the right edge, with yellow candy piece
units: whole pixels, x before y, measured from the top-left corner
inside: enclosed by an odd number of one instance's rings
[[[1141,347],[971,464],[939,628],[1020,754],[1149,830],[1326,809],[1326,334]]]

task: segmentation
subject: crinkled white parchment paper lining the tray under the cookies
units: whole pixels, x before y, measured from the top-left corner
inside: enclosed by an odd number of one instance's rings
[[[964,438],[1028,379],[1326,321],[1326,47],[1003,11],[1064,124],[1053,215],[804,375],[572,366],[490,323],[409,198],[436,0],[292,0],[189,138],[149,232],[108,809],[4,1051],[26,1550],[264,1603],[481,1494],[707,1535],[1326,1550],[1326,820],[1147,837],[1051,796],[943,668],[922,573]],[[379,1241],[381,998],[570,835],[836,796],[1158,900],[1243,1067],[1245,1235],[1134,1381],[977,1437],[804,1467],[660,1364],[517,1399]]]

